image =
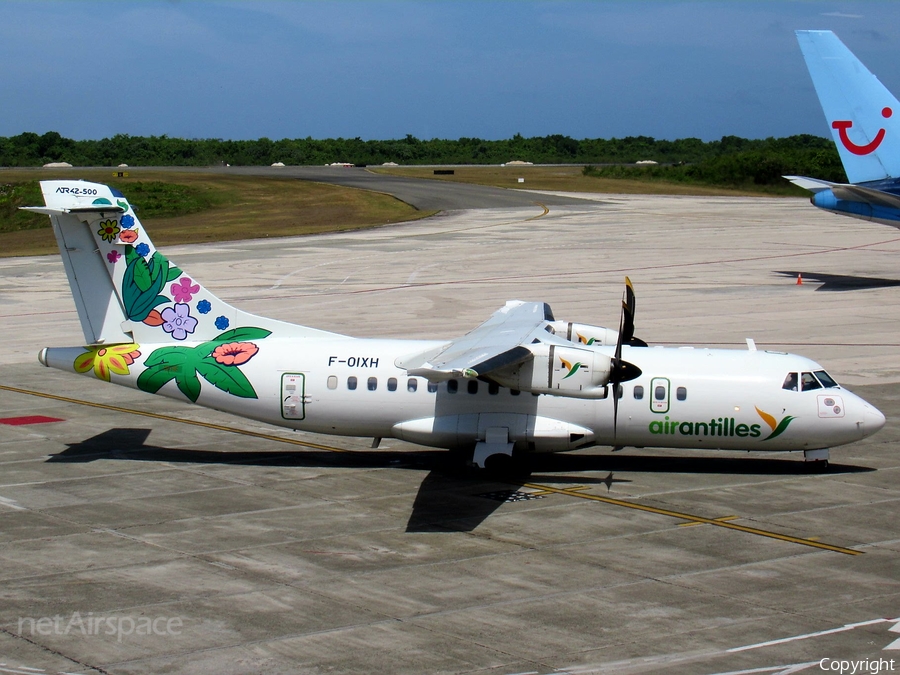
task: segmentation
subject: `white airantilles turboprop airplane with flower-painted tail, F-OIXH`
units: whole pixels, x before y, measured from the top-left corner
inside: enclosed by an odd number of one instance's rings
[[[452,340],[358,339],[236,309],[167,260],[117,190],[42,181],[86,346],[60,370],[323,434],[466,450],[479,467],[592,445],[802,450],[884,415],[802,356],[646,347],[626,279],[619,330],[508,302]],[[615,395],[612,392],[616,392]]]

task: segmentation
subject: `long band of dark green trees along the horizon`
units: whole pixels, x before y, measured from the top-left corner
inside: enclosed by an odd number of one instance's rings
[[[741,185],[778,184],[783,174],[845,180],[830,139],[803,134],[785,138],[746,139],[724,136],[717,141],[649,136],[582,139],[553,134],[506,140],[460,138],[399,140],[297,138],[273,141],[184,139],[170,136],[118,134],[101,140],[76,141],[55,131],[0,137],[0,166],[41,166],[68,162],[74,166],[266,166],[352,164],[502,164],[512,160],[535,164],[589,164],[591,175],[690,180]],[[622,167],[641,160],[656,166]],[[635,173],[638,170],[641,173]]]

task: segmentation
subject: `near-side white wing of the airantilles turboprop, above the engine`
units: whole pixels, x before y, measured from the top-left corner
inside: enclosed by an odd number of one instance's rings
[[[396,365],[432,382],[478,377],[531,358],[525,345],[537,339],[553,340],[544,329],[552,320],[553,313],[543,302],[511,300],[466,335],[437,350],[401,357]]]

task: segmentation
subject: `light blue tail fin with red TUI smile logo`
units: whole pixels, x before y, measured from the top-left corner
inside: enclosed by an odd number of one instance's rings
[[[796,33],[847,178],[900,176],[900,103],[834,33]]]

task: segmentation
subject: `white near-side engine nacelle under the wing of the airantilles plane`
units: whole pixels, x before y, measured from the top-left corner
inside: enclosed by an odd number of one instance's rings
[[[612,359],[594,349],[543,343],[528,345],[534,358],[490,379],[510,389],[573,398],[605,398]]]

